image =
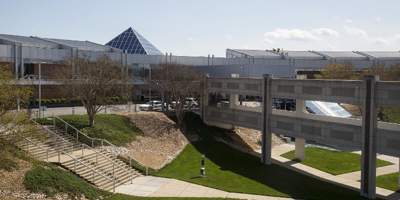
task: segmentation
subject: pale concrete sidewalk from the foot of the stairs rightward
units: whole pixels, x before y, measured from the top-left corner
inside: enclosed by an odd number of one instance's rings
[[[227,192],[182,180],[155,176],[136,177],[133,179],[132,184],[126,183],[116,187],[115,192],[154,197],[224,197],[249,200],[293,200],[293,198]]]

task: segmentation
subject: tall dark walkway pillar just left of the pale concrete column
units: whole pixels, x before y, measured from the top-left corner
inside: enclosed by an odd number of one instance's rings
[[[263,74],[262,91],[262,131],[261,131],[261,162],[271,164],[271,132],[270,119],[272,114],[272,96],[270,94],[272,74]]]

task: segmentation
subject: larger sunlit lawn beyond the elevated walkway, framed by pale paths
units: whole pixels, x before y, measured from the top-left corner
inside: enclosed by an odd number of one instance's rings
[[[280,156],[294,159],[294,150],[283,153]],[[318,147],[305,147],[305,160],[300,163],[307,166],[338,175],[361,170],[361,155],[345,151],[333,151]],[[376,159],[376,166],[386,166],[393,163]]]

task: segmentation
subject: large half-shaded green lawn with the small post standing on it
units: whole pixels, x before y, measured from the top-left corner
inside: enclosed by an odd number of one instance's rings
[[[205,177],[199,177],[205,153]],[[176,178],[229,192],[303,199],[364,199],[359,192],[293,170],[260,163],[260,158],[209,139],[194,141],[156,176]]]

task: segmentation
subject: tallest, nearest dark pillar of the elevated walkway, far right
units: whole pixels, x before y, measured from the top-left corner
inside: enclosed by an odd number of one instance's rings
[[[361,129],[361,196],[374,199],[376,188],[376,150],[374,145],[377,128],[377,107],[375,104],[375,85],[379,76],[364,76]]]

